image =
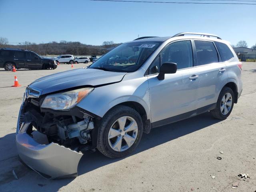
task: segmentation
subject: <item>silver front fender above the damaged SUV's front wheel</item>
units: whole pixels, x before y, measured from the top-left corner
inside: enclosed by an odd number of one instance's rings
[[[141,104],[151,120],[148,79],[142,77],[97,87],[77,106],[103,117],[108,110],[122,102]]]

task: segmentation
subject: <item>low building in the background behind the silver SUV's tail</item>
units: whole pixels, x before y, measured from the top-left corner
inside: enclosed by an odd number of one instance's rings
[[[235,47],[233,48],[238,56],[240,61],[247,61],[247,62],[256,62],[256,50],[245,48],[245,47]]]

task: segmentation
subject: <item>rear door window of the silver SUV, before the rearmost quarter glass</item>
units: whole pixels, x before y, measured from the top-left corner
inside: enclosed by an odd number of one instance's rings
[[[195,41],[198,65],[219,62],[217,50],[213,42]]]

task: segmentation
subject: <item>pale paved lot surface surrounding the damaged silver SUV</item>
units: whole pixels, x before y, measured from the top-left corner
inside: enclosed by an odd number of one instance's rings
[[[80,68],[86,64],[74,64]],[[243,63],[243,92],[228,119],[209,113],[153,129],[144,134],[138,149],[112,160],[100,152],[86,153],[78,177],[46,180],[17,158],[15,131],[23,92],[42,76],[71,70],[0,69],[0,191],[256,191],[256,63]],[[17,76],[21,87],[11,87]],[[221,154],[222,151],[224,154]],[[221,157],[222,160],[218,160]],[[15,170],[18,180],[12,174]],[[249,174],[241,179],[239,173]],[[215,178],[212,178],[215,176]],[[238,182],[236,189],[232,184]]]

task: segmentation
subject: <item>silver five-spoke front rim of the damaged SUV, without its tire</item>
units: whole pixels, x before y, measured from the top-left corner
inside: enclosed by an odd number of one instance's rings
[[[134,144],[137,136],[137,122],[130,116],[122,116],[110,127],[108,144],[114,151],[122,152]]]

